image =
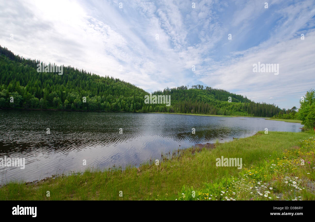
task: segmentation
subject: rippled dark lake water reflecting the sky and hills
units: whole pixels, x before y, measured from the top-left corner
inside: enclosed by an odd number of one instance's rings
[[[39,180],[88,166],[139,166],[150,157],[160,159],[161,151],[214,143],[216,139],[231,141],[265,128],[300,132],[299,127],[300,123],[250,117],[0,110],[0,158],[19,157],[26,162],[22,170],[0,166],[0,183]]]

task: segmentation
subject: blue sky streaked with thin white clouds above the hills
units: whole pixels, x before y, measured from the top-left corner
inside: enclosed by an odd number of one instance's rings
[[[315,88],[315,1],[0,0],[0,45],[148,92],[200,84],[289,109]]]

